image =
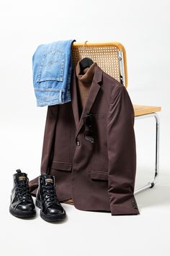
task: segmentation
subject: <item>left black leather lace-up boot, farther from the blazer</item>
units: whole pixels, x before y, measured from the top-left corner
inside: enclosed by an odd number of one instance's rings
[[[19,218],[28,218],[35,216],[35,204],[30,194],[27,174],[17,170],[13,175],[14,186],[11,195],[11,204],[9,212]]]

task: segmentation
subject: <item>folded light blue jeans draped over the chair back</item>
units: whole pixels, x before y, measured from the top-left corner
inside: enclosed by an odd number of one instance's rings
[[[71,44],[60,40],[42,44],[32,56],[32,71],[37,106],[51,106],[71,101]]]

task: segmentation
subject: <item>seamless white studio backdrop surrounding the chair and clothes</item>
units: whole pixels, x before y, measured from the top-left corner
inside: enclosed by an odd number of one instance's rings
[[[81,256],[169,255],[169,11],[168,0],[0,0],[1,255],[44,256],[53,250]],[[15,169],[22,168],[30,179],[40,174],[47,108],[36,106],[32,54],[41,43],[67,39],[120,41],[127,51],[133,103],[162,106],[161,175],[156,187],[136,195],[140,216],[113,217],[63,205],[68,220],[53,225],[38,211],[29,221],[8,213]],[[135,132],[138,185],[153,176],[153,120],[136,121]],[[27,242],[30,249],[24,252]]]

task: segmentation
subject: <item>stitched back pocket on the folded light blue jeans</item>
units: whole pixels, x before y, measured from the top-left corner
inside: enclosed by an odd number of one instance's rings
[[[63,81],[65,53],[61,50],[43,54],[36,82]]]

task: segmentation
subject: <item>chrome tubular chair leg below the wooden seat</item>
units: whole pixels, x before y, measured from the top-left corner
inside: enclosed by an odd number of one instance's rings
[[[159,174],[159,119],[158,114],[152,113],[152,114],[145,114],[141,116],[135,116],[135,119],[143,119],[147,117],[154,117],[156,119],[156,161],[155,161],[155,175],[153,182],[148,182],[148,184],[144,185],[143,187],[139,187],[138,189],[135,189],[134,194],[137,194],[138,192],[141,192],[145,189],[151,188],[156,184],[156,181],[158,179]]]

